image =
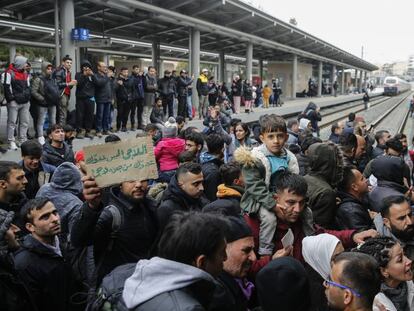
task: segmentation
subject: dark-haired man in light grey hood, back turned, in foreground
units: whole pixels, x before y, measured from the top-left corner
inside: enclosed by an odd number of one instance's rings
[[[171,217],[157,257],[140,260],[122,298],[134,311],[207,310],[226,260],[226,222],[216,215]]]

